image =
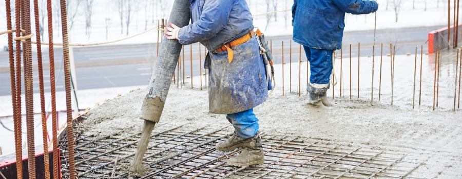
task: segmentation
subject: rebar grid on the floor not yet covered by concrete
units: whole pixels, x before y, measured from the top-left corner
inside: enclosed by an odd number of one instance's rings
[[[151,134],[143,165],[151,171],[141,178],[406,178],[430,154],[367,149],[353,144],[298,137],[263,137],[265,163],[232,167],[226,160],[239,154],[215,150],[233,128],[177,126]],[[136,152],[140,132],[79,137],[74,128],[75,168],[79,178],[124,178]],[[60,141],[61,163],[68,163],[67,136]],[[117,159],[116,159],[117,158]],[[117,164],[117,165],[114,165]],[[62,166],[63,178],[69,168]],[[112,176],[112,177],[111,177]]]

